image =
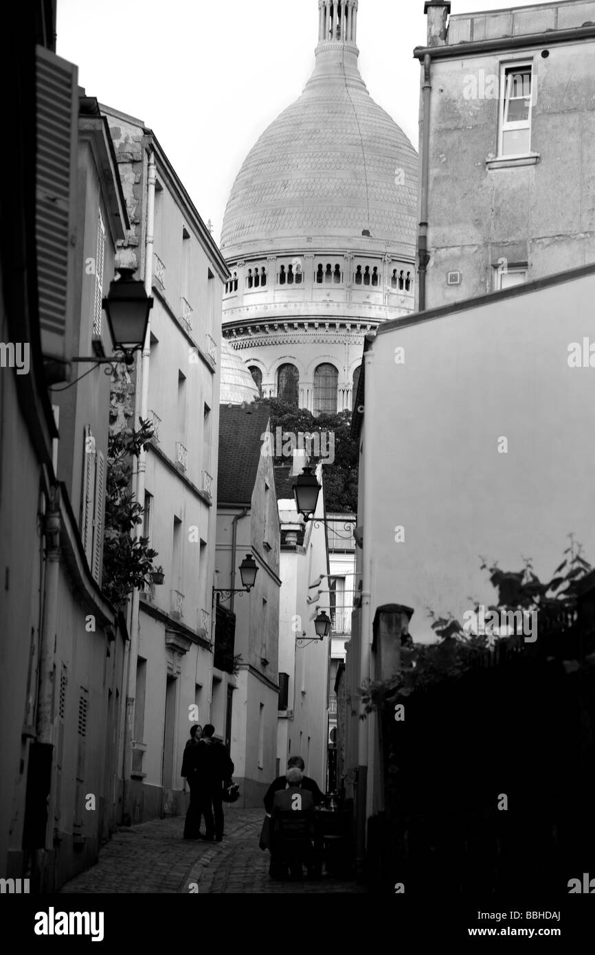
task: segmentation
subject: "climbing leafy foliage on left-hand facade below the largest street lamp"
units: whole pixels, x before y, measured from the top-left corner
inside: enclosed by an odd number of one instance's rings
[[[108,438],[102,589],[116,606],[135,588],[143,587],[158,556],[148,538],[133,536],[144,512],[132,491],[133,458],[153,436],[150,422],[138,420],[138,431],[130,429]]]

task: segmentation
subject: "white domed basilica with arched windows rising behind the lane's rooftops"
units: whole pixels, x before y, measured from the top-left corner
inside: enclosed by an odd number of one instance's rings
[[[364,335],[414,310],[417,154],[359,74],[357,12],[319,0],[314,71],[223,220],[223,337],[261,394],[313,414],[351,409]]]

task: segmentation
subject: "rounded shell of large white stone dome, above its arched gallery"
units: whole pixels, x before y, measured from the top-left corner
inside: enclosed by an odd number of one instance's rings
[[[343,248],[362,234],[369,251],[414,246],[414,147],[368,93],[355,43],[320,35],[302,96],[268,126],[234,182],[221,243],[228,261],[306,240]]]

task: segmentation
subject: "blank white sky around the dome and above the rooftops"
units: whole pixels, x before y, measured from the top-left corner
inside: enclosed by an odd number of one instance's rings
[[[517,6],[535,6],[525,0]],[[453,0],[451,12],[498,0]],[[423,0],[359,0],[359,67],[373,99],[417,147]],[[88,96],[149,126],[219,241],[248,150],[302,92],[318,0],[58,0],[60,56]]]

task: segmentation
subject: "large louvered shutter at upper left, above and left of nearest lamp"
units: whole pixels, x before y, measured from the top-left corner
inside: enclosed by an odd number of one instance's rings
[[[44,355],[67,359],[74,293],[77,69],[36,48],[35,239]]]

